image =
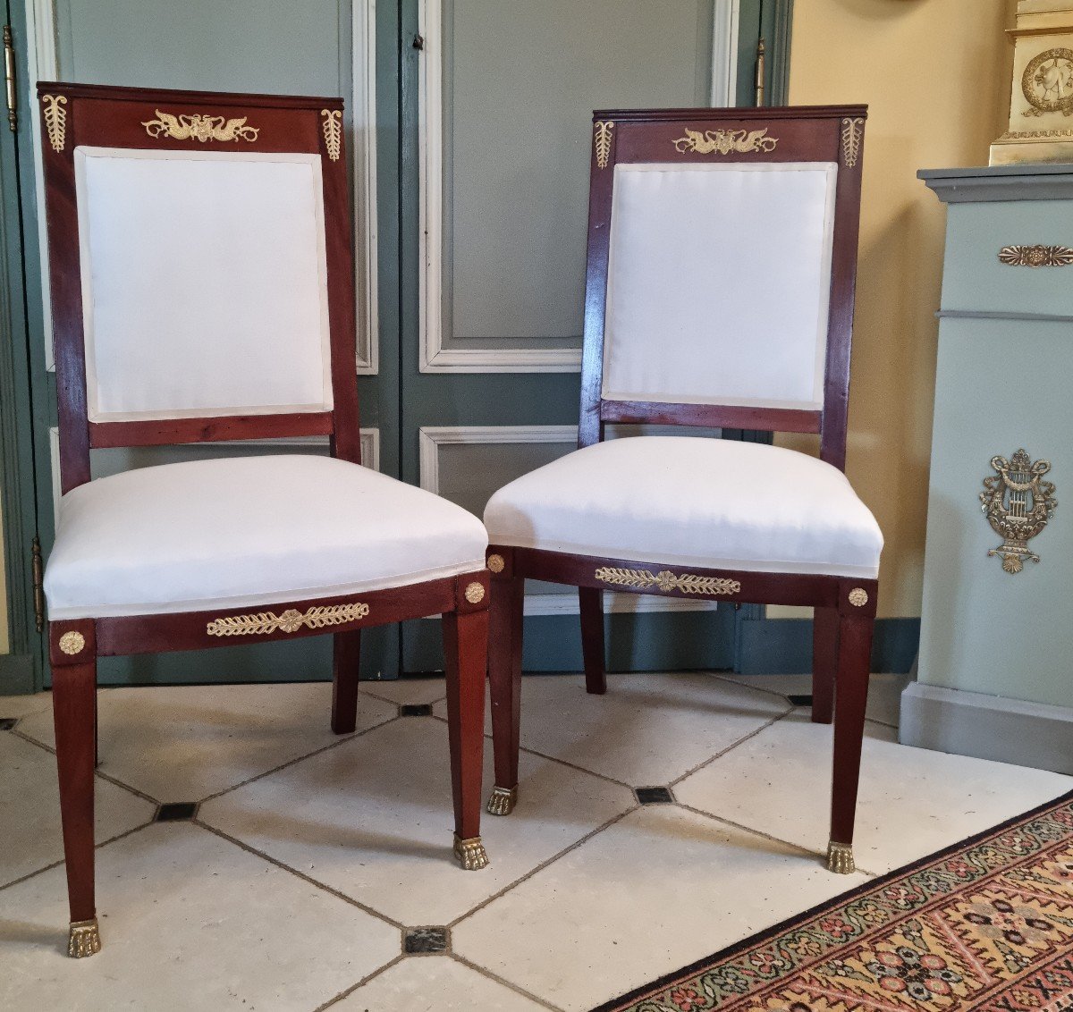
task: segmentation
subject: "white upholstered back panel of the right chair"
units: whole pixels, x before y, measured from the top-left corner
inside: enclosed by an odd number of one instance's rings
[[[821,408],[837,172],[617,165],[602,396]]]

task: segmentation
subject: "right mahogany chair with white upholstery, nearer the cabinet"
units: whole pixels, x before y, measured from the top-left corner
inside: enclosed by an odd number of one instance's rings
[[[835,720],[827,866],[853,819],[882,534],[842,473],[863,106],[598,112],[579,446],[500,489],[493,815],[517,797],[527,578],[579,588],[605,691],[605,589],[815,608],[812,719]],[[607,423],[815,432],[820,459]]]

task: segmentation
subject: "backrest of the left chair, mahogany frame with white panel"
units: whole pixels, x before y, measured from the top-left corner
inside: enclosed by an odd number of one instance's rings
[[[95,446],[359,461],[339,99],[39,84],[63,492]]]

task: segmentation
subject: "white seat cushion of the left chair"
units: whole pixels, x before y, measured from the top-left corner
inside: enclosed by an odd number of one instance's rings
[[[484,568],[481,522],[319,456],[166,464],[60,503],[50,618],[157,615],[362,593]]]

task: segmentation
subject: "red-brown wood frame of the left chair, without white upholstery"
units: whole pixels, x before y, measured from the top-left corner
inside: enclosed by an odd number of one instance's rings
[[[324,127],[328,114],[341,115],[342,100],[55,83],[39,84],[38,90],[42,101],[46,96],[61,100],[59,106],[63,118],[62,130],[57,134],[55,124],[50,131],[46,116],[42,115],[62,492],[65,494],[90,480],[90,450],[104,446],[328,436],[334,457],[359,465],[353,234],[347,158],[341,130],[338,148],[329,151]],[[220,150],[234,147],[236,143],[214,141],[206,144],[196,137],[176,140],[170,135],[151,137],[144,123],[156,118],[158,108],[173,115],[201,113],[226,119],[248,117],[259,132],[253,143],[241,142],[241,150],[320,156],[332,356],[330,411],[89,421],[75,148],[93,145],[149,150]],[[464,867],[480,868],[487,863],[480,841],[480,812],[488,597],[487,571],[479,570],[346,598],[281,599],[270,607],[259,604],[50,622],[49,656],[72,921],[69,952],[89,955],[100,948],[93,890],[92,816],[98,657],[204,649],[330,633],[335,635],[332,727],[337,733],[349,733],[355,728],[362,629],[442,614],[455,808],[454,849]],[[277,628],[225,636],[209,632],[210,622],[232,617],[233,613],[271,611],[275,614],[293,610],[305,615],[310,608],[332,608],[357,602],[368,605],[367,613],[327,628],[307,625],[292,631]]]

